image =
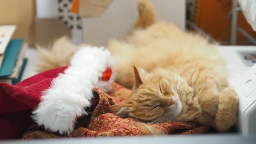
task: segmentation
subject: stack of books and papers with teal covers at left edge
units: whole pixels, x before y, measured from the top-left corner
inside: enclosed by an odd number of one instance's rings
[[[15,30],[15,25],[0,26],[0,82],[12,85],[21,81],[27,64],[24,58],[27,43],[11,39]]]

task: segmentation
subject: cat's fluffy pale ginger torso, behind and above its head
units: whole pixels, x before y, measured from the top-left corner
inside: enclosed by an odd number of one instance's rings
[[[108,48],[117,60],[116,81],[127,88],[133,88],[134,84],[133,64],[147,72],[158,67],[188,73],[202,67],[215,80],[224,80],[224,87],[228,85],[225,63],[216,45],[166,21],[157,21],[147,29],[136,29],[127,41],[112,40]]]

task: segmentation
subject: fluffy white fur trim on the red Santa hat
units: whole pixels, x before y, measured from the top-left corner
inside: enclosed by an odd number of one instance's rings
[[[33,111],[33,118],[39,125],[60,134],[73,131],[76,115],[86,115],[90,107],[93,88],[103,91],[111,89],[114,75],[109,81],[99,81],[107,67],[114,71],[114,59],[103,47],[83,47],[73,56],[70,66],[59,74],[51,87],[43,92],[41,102]]]

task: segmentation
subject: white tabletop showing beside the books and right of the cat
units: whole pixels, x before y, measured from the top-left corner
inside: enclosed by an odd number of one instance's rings
[[[250,67],[246,67],[241,61],[236,51],[239,50],[255,50],[256,46],[219,46],[220,54],[227,61],[229,70],[229,81],[234,83],[236,79],[241,77]],[[35,48],[28,48],[25,57],[28,58],[27,66],[21,80],[36,75],[36,64],[40,61],[39,54]]]

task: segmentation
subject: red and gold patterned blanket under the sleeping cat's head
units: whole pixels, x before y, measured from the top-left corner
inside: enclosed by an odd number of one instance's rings
[[[209,126],[194,123],[141,123],[133,118],[121,118],[110,113],[110,105],[123,101],[131,90],[113,83],[112,91],[104,93],[98,88],[94,90],[91,107],[86,109],[88,115],[79,117],[75,130],[69,136],[51,133],[33,123],[24,133],[22,139],[48,139],[60,137],[97,137],[97,136],[151,136],[167,134],[198,134],[211,131]]]

